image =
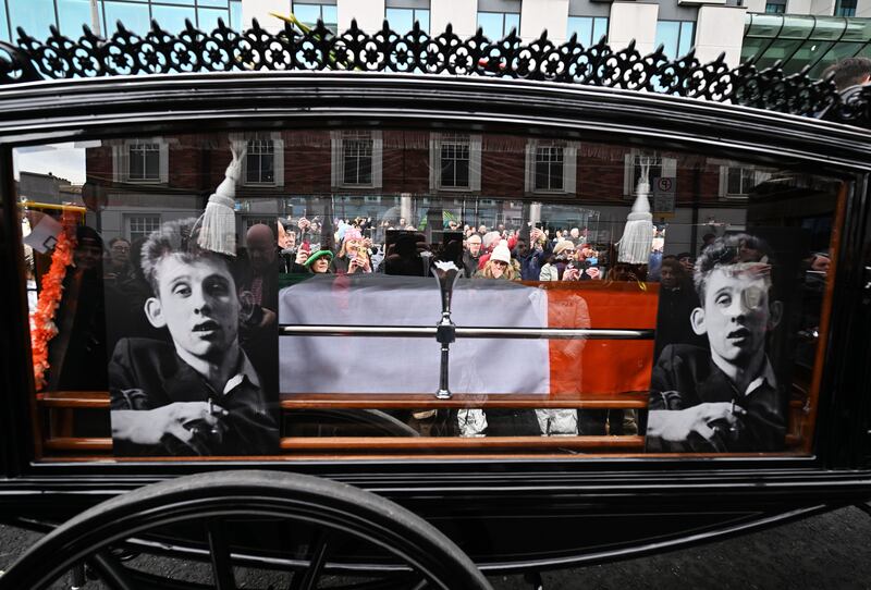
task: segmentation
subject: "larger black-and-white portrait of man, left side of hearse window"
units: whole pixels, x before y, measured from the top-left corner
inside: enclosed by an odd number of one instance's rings
[[[170,342],[119,341],[109,367],[119,455],[254,455],[279,450],[270,400],[238,341],[243,303],[230,259],[199,249],[195,219],[142,247],[144,312]],[[272,396],[275,396],[274,394]]]

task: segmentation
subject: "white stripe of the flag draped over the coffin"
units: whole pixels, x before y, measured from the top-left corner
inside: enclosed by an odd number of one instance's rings
[[[316,276],[282,290],[279,322],[333,325],[434,325],[441,317],[434,278],[379,274]],[[547,328],[548,297],[506,281],[457,281],[457,325]],[[434,339],[282,336],[281,391],[286,393],[434,393],[440,345]],[[454,393],[550,392],[547,340],[457,340],[451,345]]]

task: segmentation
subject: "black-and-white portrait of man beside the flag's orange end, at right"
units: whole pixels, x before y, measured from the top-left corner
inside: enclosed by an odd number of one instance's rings
[[[689,321],[710,351],[665,346],[653,368],[647,428],[652,452],[780,451],[786,393],[766,354],[783,305],[769,246],[748,234],[714,239],[696,262],[699,307]]]

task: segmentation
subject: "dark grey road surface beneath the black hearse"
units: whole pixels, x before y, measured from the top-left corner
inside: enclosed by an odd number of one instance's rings
[[[0,569],[39,534],[0,526]],[[871,517],[856,507],[700,546],[582,568],[545,571],[545,589],[871,590]],[[495,590],[528,590],[494,576]],[[58,588],[64,588],[59,586]],[[99,590],[89,582],[84,590]]]

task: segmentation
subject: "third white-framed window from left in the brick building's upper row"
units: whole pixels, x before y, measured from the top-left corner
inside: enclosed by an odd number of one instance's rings
[[[380,131],[332,132],[331,142],[333,186],[381,186]]]

